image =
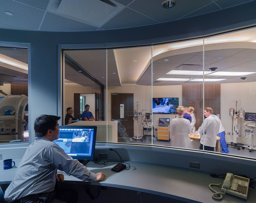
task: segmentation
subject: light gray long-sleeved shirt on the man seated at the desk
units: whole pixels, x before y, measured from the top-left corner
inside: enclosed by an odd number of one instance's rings
[[[27,195],[52,192],[57,169],[82,181],[93,182],[96,178],[94,173],[68,156],[57,144],[41,138],[27,148],[4,199],[12,202]]]

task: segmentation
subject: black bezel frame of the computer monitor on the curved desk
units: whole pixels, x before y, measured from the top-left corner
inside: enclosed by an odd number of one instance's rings
[[[59,126],[59,129],[63,128],[84,128],[84,129],[93,129],[93,138],[92,138],[92,152],[91,156],[71,156],[73,159],[82,159],[82,160],[93,160],[94,158],[94,151],[95,151],[95,144],[96,144],[96,135],[97,135],[97,126]],[[56,143],[56,142],[55,142]],[[66,153],[70,154],[70,153]],[[70,155],[69,155],[70,156]]]

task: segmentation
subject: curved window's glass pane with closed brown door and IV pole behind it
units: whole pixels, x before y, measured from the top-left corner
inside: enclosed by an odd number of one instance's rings
[[[151,47],[108,49],[108,123],[113,142],[152,144]]]

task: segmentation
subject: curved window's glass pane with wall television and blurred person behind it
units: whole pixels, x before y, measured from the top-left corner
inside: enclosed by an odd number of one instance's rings
[[[153,46],[154,145],[199,149],[203,40]]]

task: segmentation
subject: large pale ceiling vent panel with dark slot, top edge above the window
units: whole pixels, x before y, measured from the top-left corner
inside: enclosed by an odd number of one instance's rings
[[[61,0],[53,1],[50,12],[101,27],[125,6],[114,0]]]

